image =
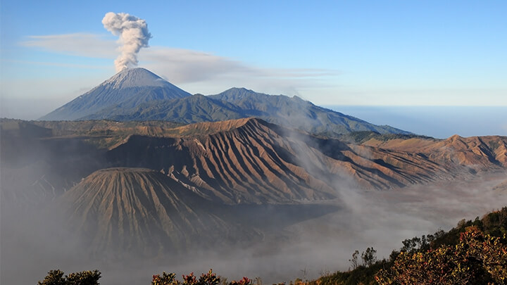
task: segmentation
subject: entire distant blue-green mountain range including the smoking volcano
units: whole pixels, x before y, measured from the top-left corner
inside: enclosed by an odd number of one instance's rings
[[[377,126],[294,96],[231,88],[190,95],[144,68],[126,69],[41,120],[168,120],[184,124],[257,117],[323,136],[356,131],[410,132]]]

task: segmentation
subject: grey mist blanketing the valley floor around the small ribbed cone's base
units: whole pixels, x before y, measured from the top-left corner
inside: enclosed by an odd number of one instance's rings
[[[505,177],[505,173],[499,173],[476,177],[471,182],[441,182],[389,191],[364,191],[345,182],[348,185],[339,187],[338,199],[306,203],[328,209],[317,215],[294,217],[272,211],[277,217],[263,220],[264,239],[251,246],[218,246],[156,258],[89,258],[82,241],[55,218],[55,204],[49,211],[47,207],[19,208],[3,203],[1,283],[35,284],[47,271],[57,268],[65,273],[99,269],[101,284],[149,284],[152,274],[163,271],[180,277],[210,268],[229,280],[260,277],[263,284],[314,279],[325,272],[348,270],[348,260],[355,250],[361,252],[373,246],[377,258],[388,258],[391,251],[402,246],[403,239],[449,230],[463,218],[482,217],[507,205],[505,193],[492,191]]]

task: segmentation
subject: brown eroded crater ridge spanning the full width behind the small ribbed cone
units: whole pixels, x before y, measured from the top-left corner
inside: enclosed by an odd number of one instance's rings
[[[20,132],[15,124],[28,129],[39,124],[40,137],[12,137]],[[30,124],[34,126],[28,127]],[[134,127],[136,124],[139,127]],[[12,126],[4,129],[4,125]],[[66,125],[75,131],[65,132]],[[49,191],[35,196],[61,194],[68,185],[78,183],[78,178],[107,167],[163,170],[201,196],[226,203],[325,200],[335,196],[336,186],[346,181],[342,177],[349,177],[349,182],[363,189],[396,189],[467,179],[507,168],[506,137],[442,140],[387,136],[379,140],[375,136],[354,144],[315,137],[258,118],[183,126],[166,122],[3,120],[1,130],[2,175],[12,175],[20,167],[41,171],[38,176],[23,179],[29,186],[27,195]],[[5,182],[10,180],[4,177]],[[39,189],[42,186],[45,189]],[[25,189],[20,189],[21,193]]]

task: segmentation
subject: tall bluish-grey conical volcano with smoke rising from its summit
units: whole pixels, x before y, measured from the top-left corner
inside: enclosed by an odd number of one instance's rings
[[[79,120],[104,108],[113,106],[132,108],[139,103],[186,96],[190,96],[187,91],[163,80],[149,70],[127,68],[73,101],[44,115],[40,120]]]

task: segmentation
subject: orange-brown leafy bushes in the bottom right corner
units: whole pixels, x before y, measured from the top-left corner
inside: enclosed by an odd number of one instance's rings
[[[506,236],[484,236],[478,227],[468,227],[456,246],[402,252],[391,270],[380,270],[375,279],[379,284],[506,284],[505,241]]]

